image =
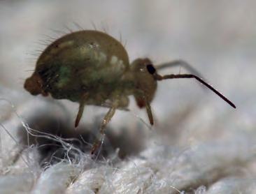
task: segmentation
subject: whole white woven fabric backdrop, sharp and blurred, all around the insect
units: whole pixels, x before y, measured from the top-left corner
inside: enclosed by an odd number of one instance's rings
[[[255,6],[253,0],[0,1],[0,193],[256,193]],[[106,108],[86,107],[74,130],[78,104],[23,89],[40,50],[61,36],[56,30],[80,29],[73,22],[85,29],[95,23],[117,39],[121,32],[130,61],[185,59],[238,108],[194,80],[159,82],[154,128],[131,98],[131,112],[116,112],[101,154],[92,158]]]

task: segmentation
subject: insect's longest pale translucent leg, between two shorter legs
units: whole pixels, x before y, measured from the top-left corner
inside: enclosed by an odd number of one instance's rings
[[[99,128],[99,132],[100,132],[99,136],[100,137],[98,137],[97,140],[94,142],[93,147],[91,149],[91,154],[94,154],[95,151],[97,151],[97,149],[99,149],[99,146],[101,145],[101,143],[103,143],[106,125],[111,121],[112,117],[115,114],[115,110],[118,108],[119,104],[120,104],[120,100],[114,100],[110,110],[108,110],[103,121],[101,122],[101,126]]]

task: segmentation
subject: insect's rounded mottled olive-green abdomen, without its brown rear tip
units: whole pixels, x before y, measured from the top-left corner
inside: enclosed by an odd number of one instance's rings
[[[36,63],[43,90],[53,98],[100,105],[113,94],[123,94],[122,80],[129,70],[125,48],[99,31],[78,31],[49,45]]]

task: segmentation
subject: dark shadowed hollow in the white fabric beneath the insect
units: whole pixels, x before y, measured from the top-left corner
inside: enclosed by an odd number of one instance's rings
[[[47,113],[34,114],[27,119],[27,130],[20,126],[18,135],[24,147],[35,146],[38,150],[38,163],[42,167],[68,161],[79,163],[84,159],[94,159],[90,154],[92,144],[99,133],[101,117],[97,117],[92,124],[81,124],[76,130],[69,121],[52,117]],[[143,148],[143,141],[134,141],[132,135],[126,133],[113,133],[109,126],[97,159],[118,154],[118,158],[131,156]],[[129,131],[127,128],[122,132]],[[143,138],[142,138],[143,139]],[[118,150],[118,152],[117,152]]]

